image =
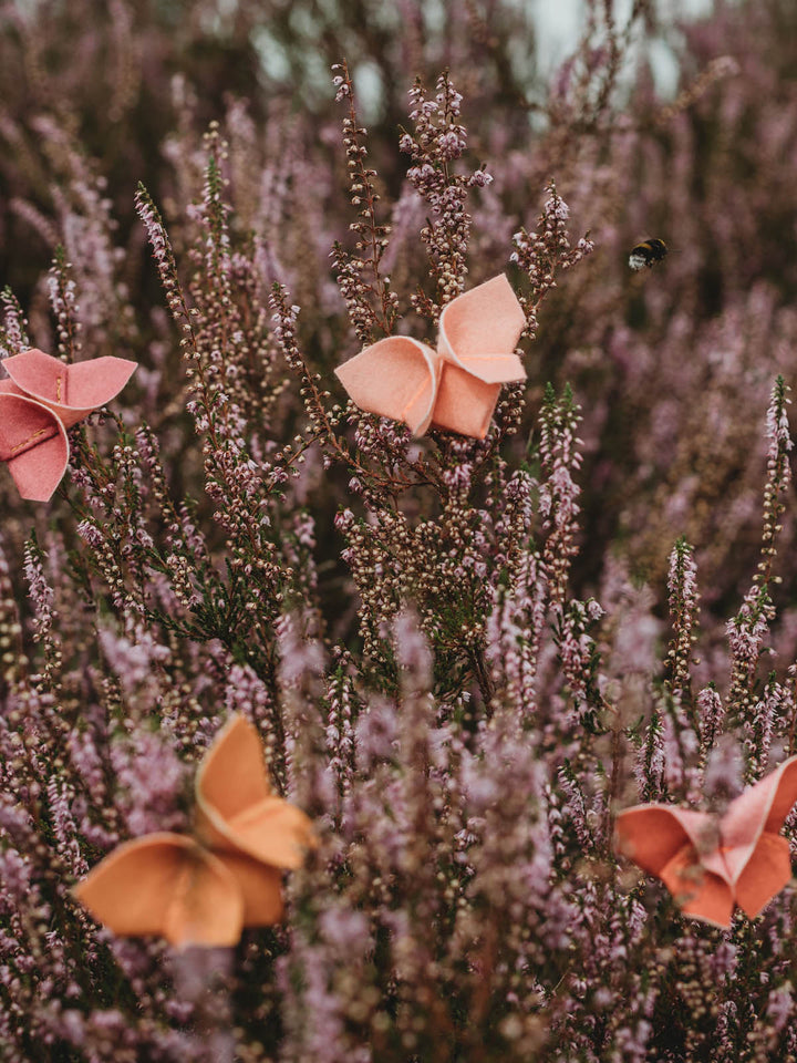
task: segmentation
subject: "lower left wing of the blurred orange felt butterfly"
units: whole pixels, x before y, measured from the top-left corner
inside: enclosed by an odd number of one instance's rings
[[[244,925],[236,878],[190,838],[166,832],[126,842],[74,888],[94,918],[121,937],[231,946]]]

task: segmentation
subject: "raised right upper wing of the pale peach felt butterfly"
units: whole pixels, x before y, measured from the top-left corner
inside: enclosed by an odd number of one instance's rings
[[[526,316],[504,274],[453,299],[441,314],[437,349],[486,384],[525,380],[515,348]]]

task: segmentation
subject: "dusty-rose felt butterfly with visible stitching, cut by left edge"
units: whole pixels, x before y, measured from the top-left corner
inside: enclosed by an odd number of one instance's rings
[[[68,365],[32,349],[3,359],[0,462],[23,498],[48,502],[69,462],[66,429],[122,391],[136,363],[103,355]]]

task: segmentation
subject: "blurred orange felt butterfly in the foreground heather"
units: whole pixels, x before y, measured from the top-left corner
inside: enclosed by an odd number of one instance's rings
[[[299,867],[311,824],[269,785],[257,731],[234,715],[196,775],[196,837],[159,832],[118,846],[74,889],[120,936],[231,946],[282,916],[281,868]]]

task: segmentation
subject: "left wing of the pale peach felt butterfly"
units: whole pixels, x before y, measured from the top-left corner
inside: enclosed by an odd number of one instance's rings
[[[428,429],[439,367],[425,343],[390,336],[339,365],[335,375],[366,413],[404,421],[413,435]]]

